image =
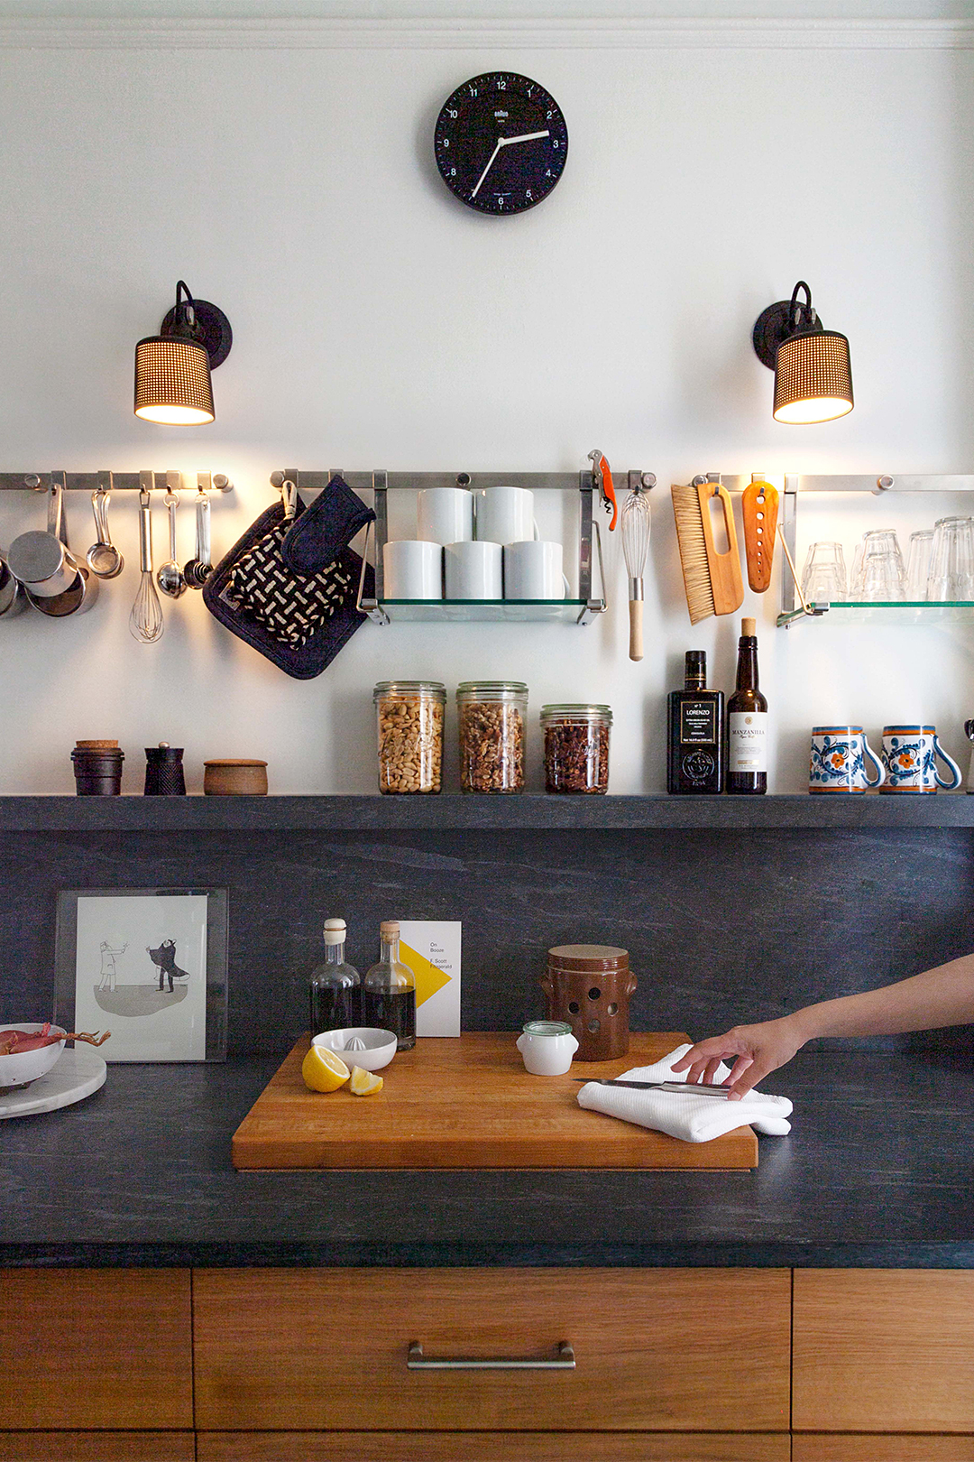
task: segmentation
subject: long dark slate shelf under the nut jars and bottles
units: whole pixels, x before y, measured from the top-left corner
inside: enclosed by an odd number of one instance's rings
[[[974,797],[0,797],[0,832],[974,827]]]

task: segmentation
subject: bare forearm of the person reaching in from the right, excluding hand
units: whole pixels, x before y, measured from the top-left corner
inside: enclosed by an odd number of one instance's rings
[[[824,1000],[787,1018],[799,1044],[816,1035],[894,1035],[974,1022],[974,955],[882,990]]]

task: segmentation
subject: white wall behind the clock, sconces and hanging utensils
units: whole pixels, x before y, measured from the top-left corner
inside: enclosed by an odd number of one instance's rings
[[[312,44],[282,31],[279,48],[218,26],[196,48],[175,48],[177,31],[155,47],[126,31],[115,45],[104,29],[58,48],[42,26],[28,48],[0,29],[0,469],[228,472],[237,491],[213,512],[222,551],[272,501],[275,468],[502,475],[575,469],[597,444],[662,484],[643,664],[626,656],[618,544],[612,608],[584,630],[367,624],[323,677],[298,683],[187,594],[166,604],[162,642],[140,646],[127,632],[134,503],[118,499],[130,567],[95,610],[0,621],[1,791],[70,791],[82,735],[120,738],[129,791],[159,740],[185,746],[191,789],[207,756],[263,756],[277,792],[371,791],[371,689],[390,675],[450,690],[523,678],[534,712],[607,700],[612,789],[660,791],[683,649],[705,648],[711,683],[727,686],[737,632],[736,618],[691,630],[669,482],[707,469],[974,469],[971,34],[786,29],[768,45],[714,23],[673,47],[651,26],[606,23],[593,51],[556,26],[537,44],[539,29],[530,48],[470,28],[453,44],[421,29],[397,48],[348,28],[333,45],[327,25]],[[555,193],[508,219],[456,205],[431,162],[442,99],[496,66],[543,82],[571,137]],[[134,342],[178,276],[235,335],[215,376],[218,421],[199,431],[131,415]],[[857,399],[845,420],[805,428],[771,420],[772,377],[751,349],[753,319],[799,276],[850,336]],[[876,499],[827,507],[813,537],[850,550],[866,523],[907,531],[911,512],[933,516]],[[156,515],[159,547],[161,503]],[[0,544],[39,518],[37,501],[4,494]],[[72,497],[69,528],[76,545],[92,541],[85,499]],[[181,534],[190,557],[188,509]],[[759,618],[774,789],[802,789],[808,728],[824,718],[935,718],[962,753],[967,627],[786,633],[777,585],[775,572],[742,610]]]

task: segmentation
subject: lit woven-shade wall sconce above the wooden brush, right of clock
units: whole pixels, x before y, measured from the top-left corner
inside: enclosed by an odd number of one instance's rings
[[[799,304],[799,289],[805,289],[805,304]],[[778,300],[761,311],[752,339],[758,360],[774,371],[775,421],[834,421],[853,409],[848,341],[822,329],[805,279],[790,303]]]

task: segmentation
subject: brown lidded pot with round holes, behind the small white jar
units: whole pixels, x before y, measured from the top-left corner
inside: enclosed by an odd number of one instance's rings
[[[567,1020],[577,1061],[609,1061],[629,1050],[629,950],[613,944],[556,944],[542,980],[548,1019]]]

